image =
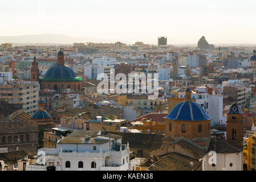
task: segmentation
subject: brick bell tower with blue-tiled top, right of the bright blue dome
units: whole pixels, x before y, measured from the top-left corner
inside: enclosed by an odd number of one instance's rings
[[[227,142],[243,147],[243,112],[236,102],[227,113]]]

